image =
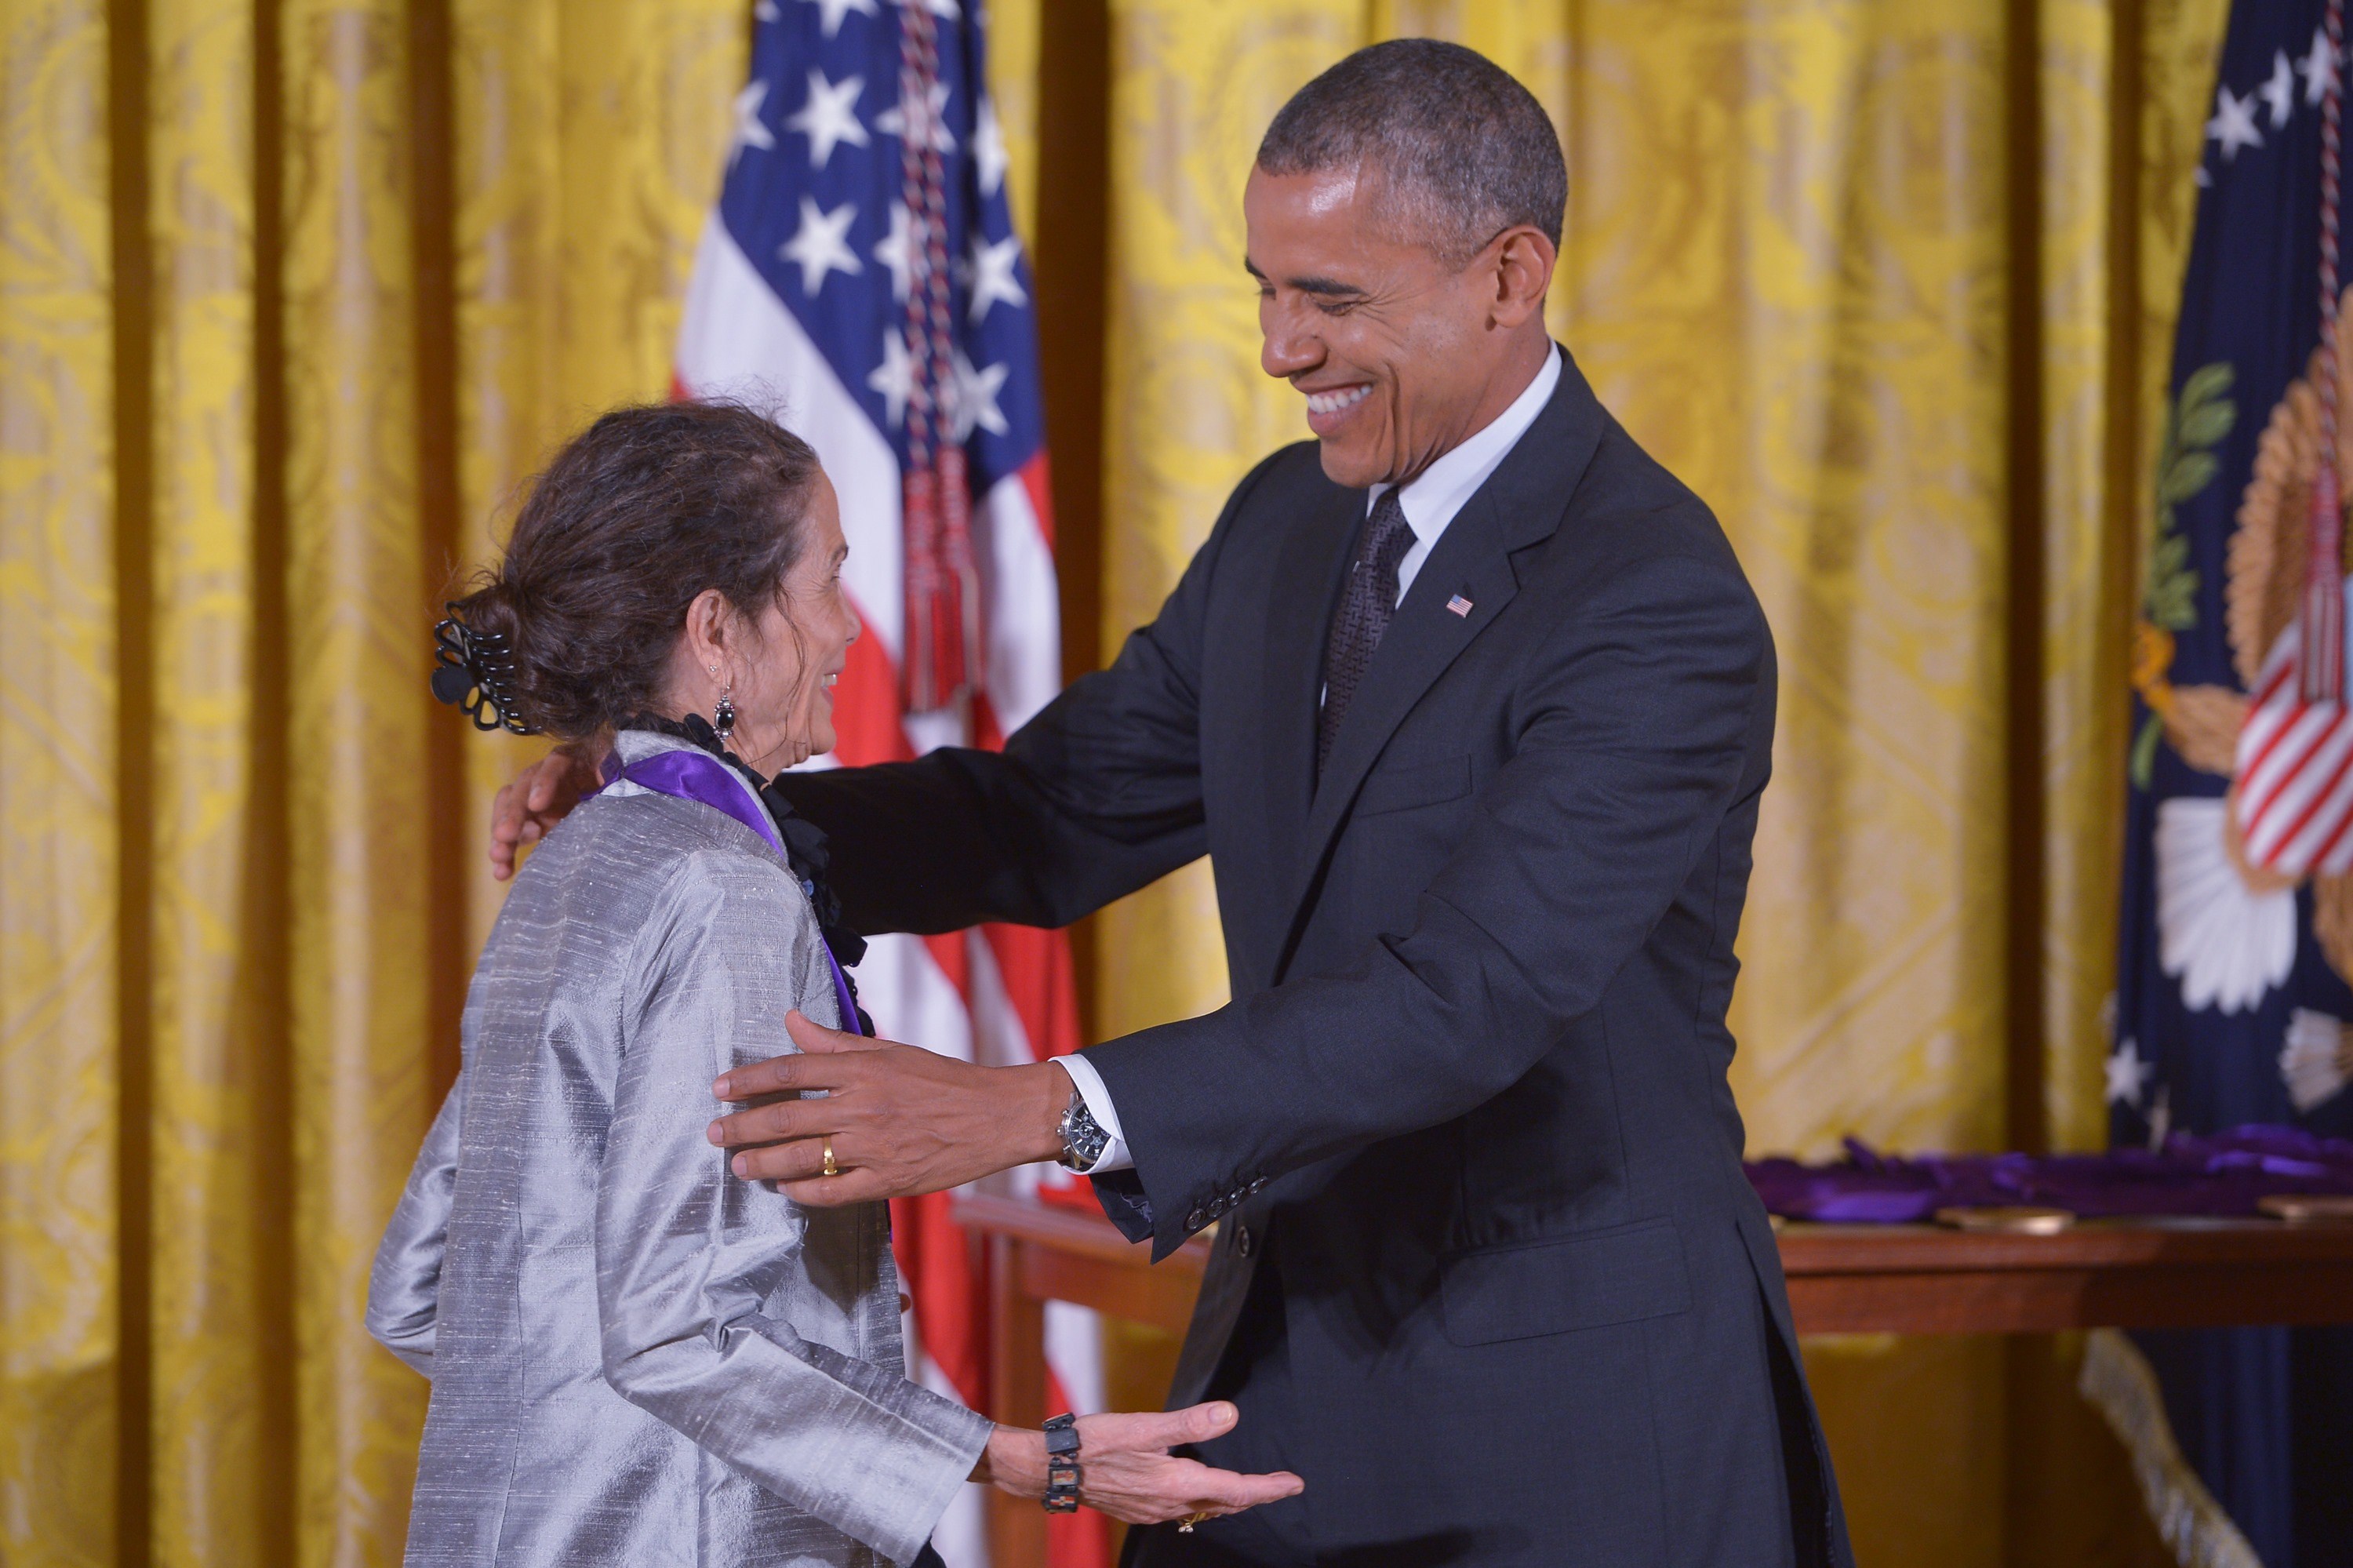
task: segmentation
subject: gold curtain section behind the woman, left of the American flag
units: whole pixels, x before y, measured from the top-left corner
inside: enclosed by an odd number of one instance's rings
[[[424,633],[668,388],[746,35],[0,7],[0,1561],[400,1559],[426,1387],[360,1304],[513,768]]]

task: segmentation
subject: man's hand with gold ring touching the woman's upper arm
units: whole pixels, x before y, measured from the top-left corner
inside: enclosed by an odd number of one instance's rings
[[[729,1102],[826,1090],[824,1099],[753,1104],[711,1123],[736,1149],[739,1177],[779,1182],[795,1203],[838,1205],[946,1191],[991,1170],[1061,1154],[1071,1074],[1052,1062],[974,1067],[913,1045],[784,1019],[798,1057],[729,1069]],[[826,1144],[840,1175],[824,1175]]]

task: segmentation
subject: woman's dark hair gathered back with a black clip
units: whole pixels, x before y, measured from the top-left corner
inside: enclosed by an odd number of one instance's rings
[[[574,436],[452,605],[513,650],[511,718],[588,739],[654,709],[696,593],[748,617],[784,593],[816,476],[809,443],[732,403],[616,407]]]

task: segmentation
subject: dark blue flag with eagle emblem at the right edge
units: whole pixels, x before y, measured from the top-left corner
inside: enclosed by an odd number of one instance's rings
[[[2233,5],[2141,553],[2118,1144],[2353,1132],[2344,64],[2341,0]],[[2162,1410],[2120,1427],[2181,1561],[2353,1561],[2353,1337],[2137,1342]]]

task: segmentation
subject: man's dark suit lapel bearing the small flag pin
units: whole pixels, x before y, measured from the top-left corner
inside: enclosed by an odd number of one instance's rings
[[[1551,403],[1454,516],[1431,558],[1421,563],[1414,586],[1405,591],[1405,603],[1398,605],[1395,619],[1381,633],[1381,647],[1341,720],[1332,758],[1313,784],[1313,805],[1306,831],[1299,836],[1301,850],[1289,869],[1289,921],[1273,970],[1275,979],[1282,977],[1299,946],[1325,857],[1348,819],[1348,808],[1355,803],[1365,775],[1424,692],[1520,591],[1511,565],[1513,551],[1541,544],[1560,527],[1569,492],[1586,464],[1593,461],[1607,414],[1577,372],[1577,360],[1565,348],[1560,358],[1560,386]],[[1461,614],[1449,610],[1447,603],[1454,598],[1468,600],[1468,610]],[[1318,605],[1322,610],[1318,626],[1322,626],[1329,622],[1332,589]],[[1311,692],[1320,683],[1320,645],[1313,652],[1313,669]],[[1311,737],[1306,756],[1313,763],[1313,697],[1308,713],[1304,725]]]

